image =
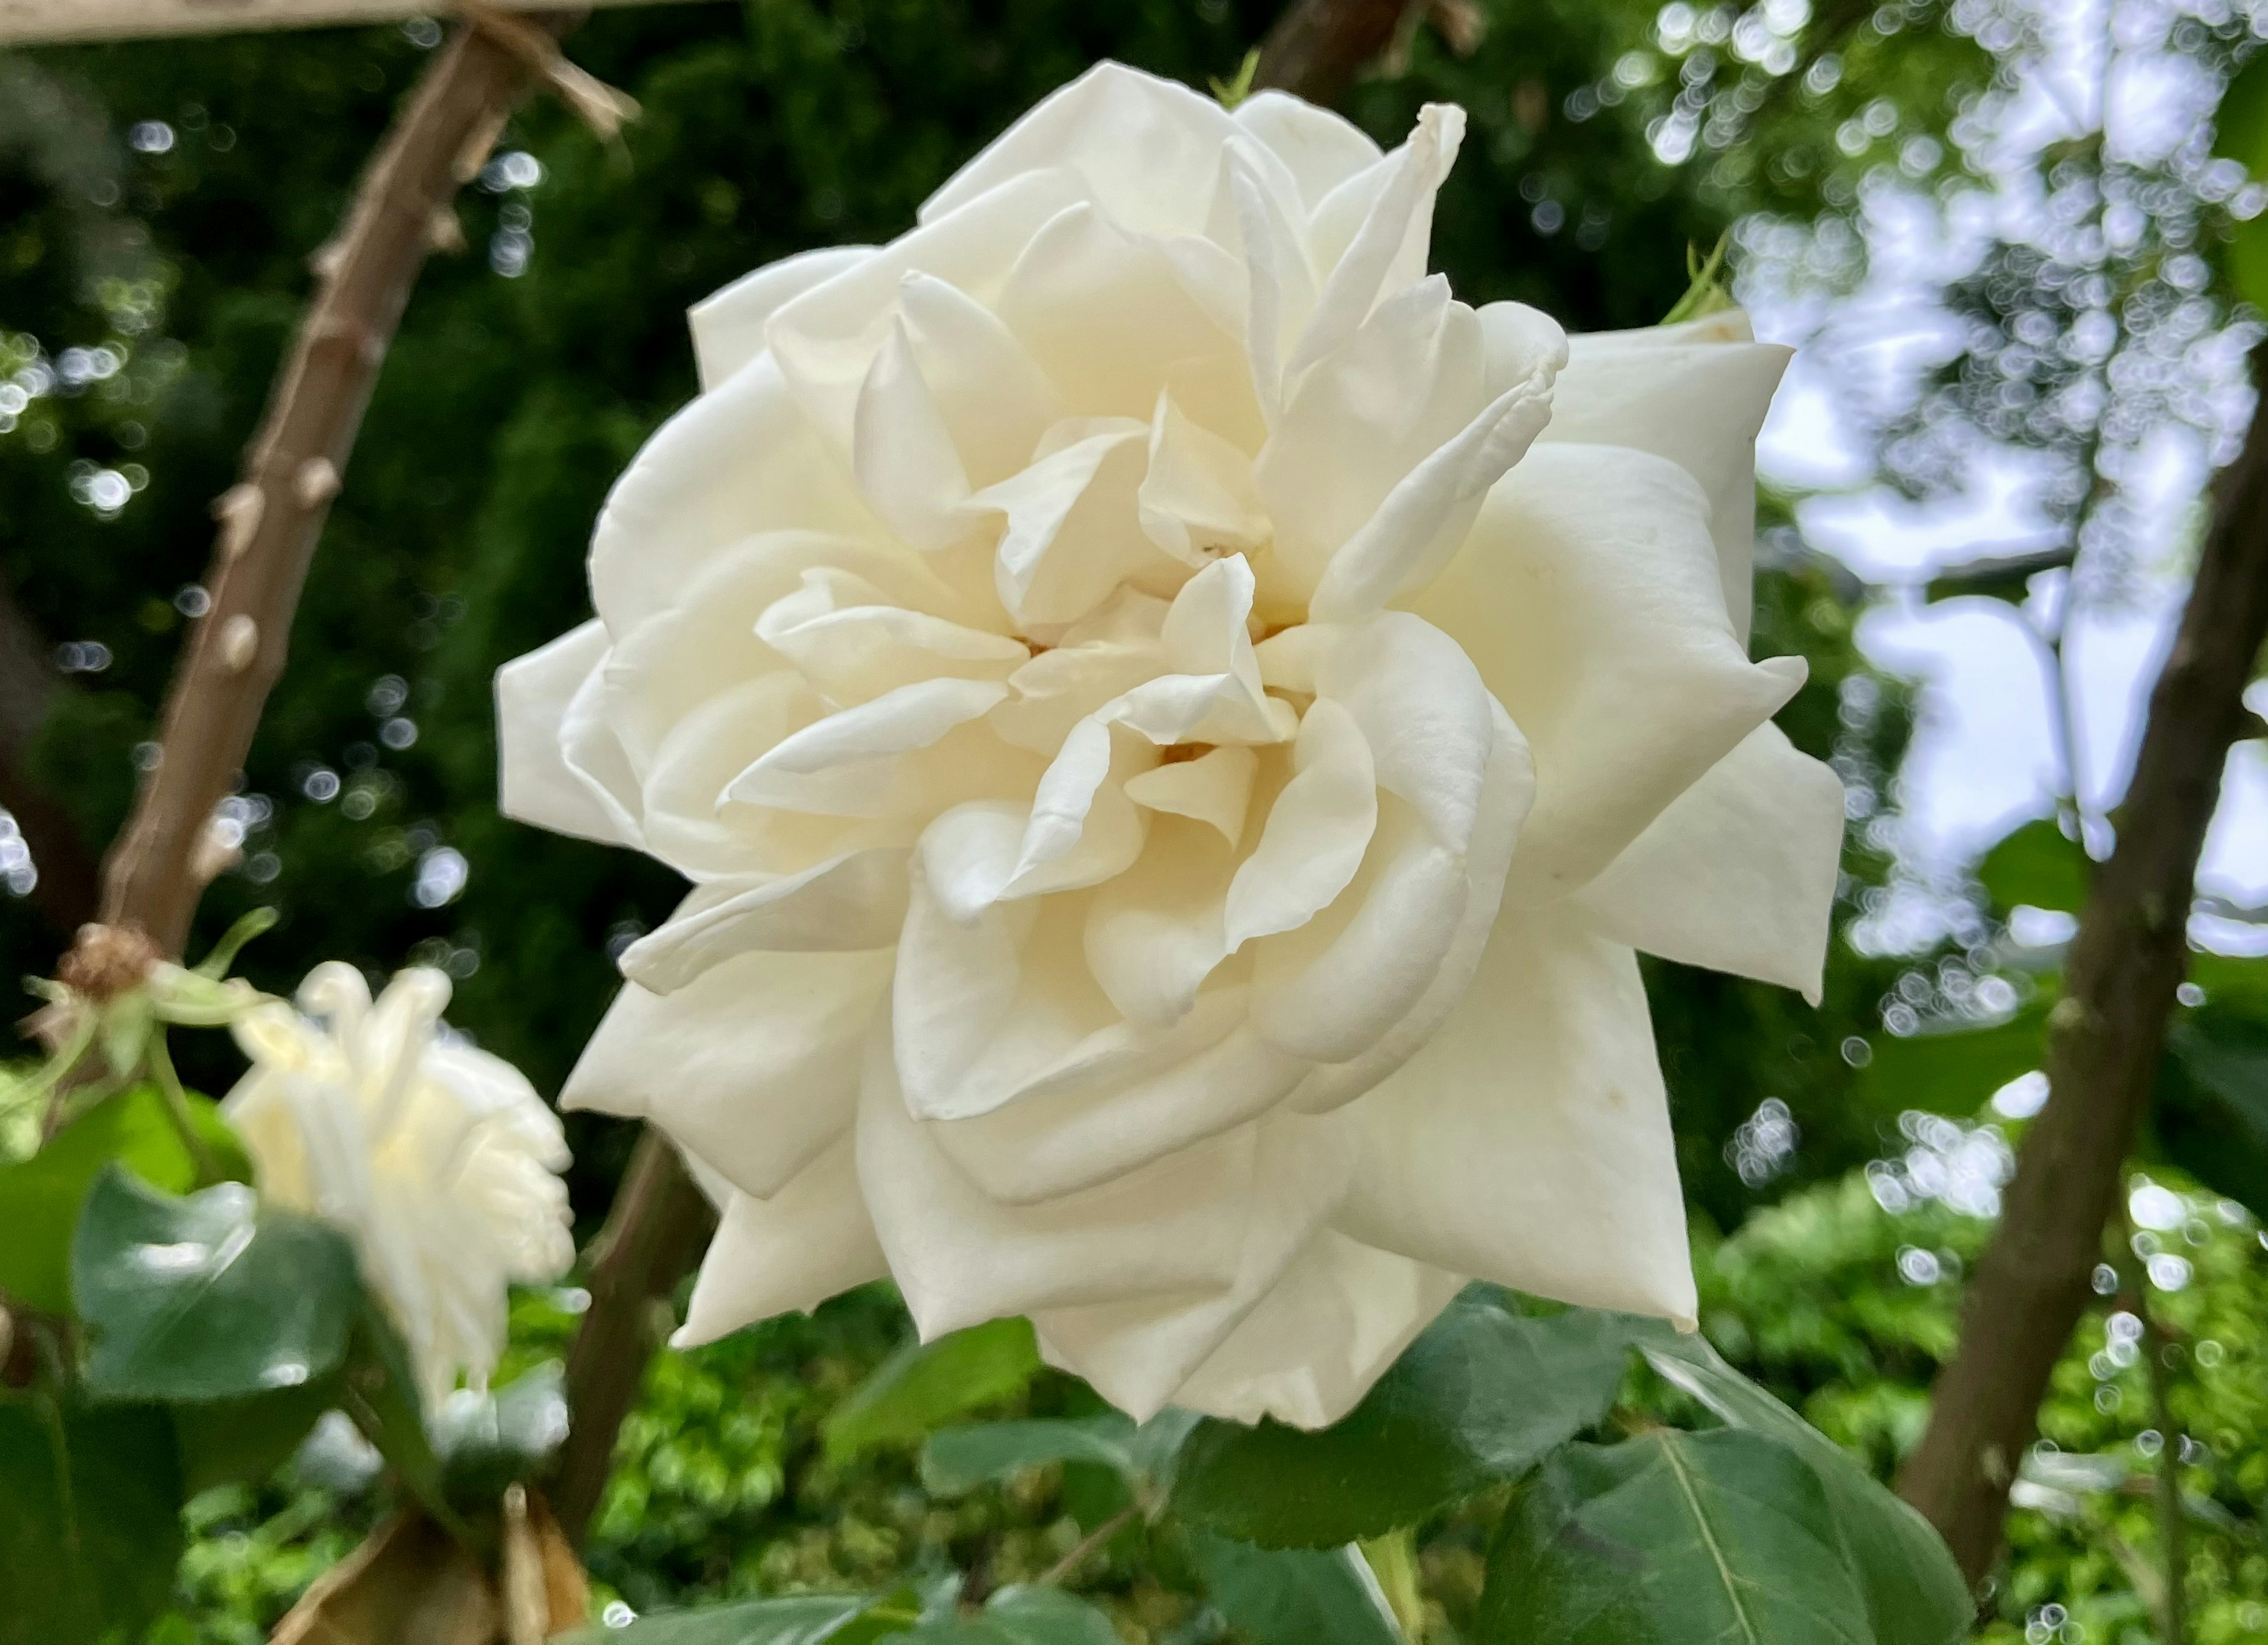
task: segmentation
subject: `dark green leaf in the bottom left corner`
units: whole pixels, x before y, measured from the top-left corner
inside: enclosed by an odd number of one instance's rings
[[[141,1638],[181,1557],[172,1457],[154,1407],[0,1400],[0,1645]]]

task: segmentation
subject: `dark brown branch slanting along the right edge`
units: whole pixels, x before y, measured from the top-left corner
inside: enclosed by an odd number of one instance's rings
[[[2268,345],[2252,354],[2268,381]],[[2118,1175],[2150,1098],[2182,982],[2198,853],[2220,799],[2243,690],[2268,635],[2268,408],[2214,486],[2214,520],[2173,651],[2150,692],[2118,844],[2071,942],[2048,1016],[2048,1105],[2030,1123],[2000,1225],[1962,1307],[1930,1427],[1898,1482],[1971,1581],[2000,1550],[2048,1373],[2091,1298]]]

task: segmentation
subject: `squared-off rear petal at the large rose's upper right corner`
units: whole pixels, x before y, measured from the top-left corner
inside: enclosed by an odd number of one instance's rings
[[[1794,349],[1744,340],[1746,318],[1728,329],[1742,340],[1710,340],[1692,327],[1569,338],[1567,370],[1551,393],[1551,427],[1540,438],[1653,452],[1701,481],[1724,604],[1746,642],[1755,436]]]

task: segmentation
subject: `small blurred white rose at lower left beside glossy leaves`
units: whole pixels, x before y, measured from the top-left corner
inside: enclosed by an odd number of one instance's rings
[[[354,1241],[429,1400],[494,1370],[508,1284],[574,1262],[558,1114],[503,1057],[451,1039],[447,1003],[440,971],[401,971],[372,1003],[352,964],[320,964],[299,1010],[236,1016],[252,1071],[220,1107],[261,1198]]]

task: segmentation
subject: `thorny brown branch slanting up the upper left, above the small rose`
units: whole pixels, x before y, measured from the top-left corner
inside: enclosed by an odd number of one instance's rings
[[[553,14],[549,25],[565,29]],[[522,57],[458,29],[363,172],[347,220],[315,259],[315,297],[293,338],[243,479],[215,504],[211,610],[166,697],[161,753],[104,862],[102,919],[179,953],[213,874],[200,851],[284,672],[293,610],[338,495],[370,386],[458,186],[479,172],[526,91]]]

